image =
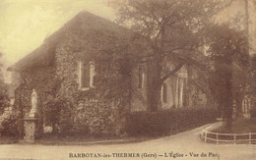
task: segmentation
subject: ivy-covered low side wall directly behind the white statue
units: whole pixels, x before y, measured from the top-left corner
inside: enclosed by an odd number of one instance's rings
[[[21,119],[29,116],[32,108],[32,89],[35,89],[38,95],[37,111],[39,116],[39,134],[43,130],[43,102],[46,101],[47,96],[55,94],[56,79],[55,68],[39,68],[28,72],[21,73],[22,83],[15,91],[15,107],[21,113]],[[23,123],[20,122],[20,133],[23,133]]]

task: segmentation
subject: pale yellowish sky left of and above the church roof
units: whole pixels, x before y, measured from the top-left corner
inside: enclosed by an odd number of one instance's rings
[[[107,0],[0,0],[0,52],[11,65],[80,11],[113,20]]]

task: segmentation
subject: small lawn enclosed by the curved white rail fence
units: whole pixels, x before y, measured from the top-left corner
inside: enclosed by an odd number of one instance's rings
[[[232,130],[227,131],[224,126],[213,130],[214,133],[256,133],[256,119],[235,119],[232,122]]]

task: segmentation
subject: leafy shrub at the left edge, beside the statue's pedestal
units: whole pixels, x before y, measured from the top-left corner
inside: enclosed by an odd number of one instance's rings
[[[11,115],[4,118],[1,124],[0,134],[6,136],[19,135],[18,125],[18,112],[13,112]]]

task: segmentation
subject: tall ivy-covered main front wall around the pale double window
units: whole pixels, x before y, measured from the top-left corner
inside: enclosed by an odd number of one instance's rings
[[[121,133],[131,101],[131,66],[125,58],[128,48],[122,45],[131,35],[101,20],[92,20],[90,25],[78,21],[78,26],[65,32],[55,51],[60,94],[74,106],[73,128],[95,134]],[[81,90],[79,62],[90,61],[96,64],[96,87]]]

